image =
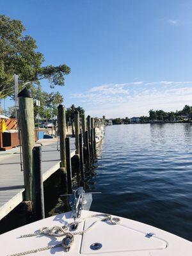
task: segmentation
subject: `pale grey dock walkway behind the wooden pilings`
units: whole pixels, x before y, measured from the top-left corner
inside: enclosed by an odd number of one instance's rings
[[[43,179],[48,179],[60,168],[60,152],[57,150],[58,139],[44,139],[42,143]],[[71,157],[75,154],[75,140],[70,140]],[[20,171],[20,149],[12,148],[0,151],[0,220],[23,200],[24,175]]]

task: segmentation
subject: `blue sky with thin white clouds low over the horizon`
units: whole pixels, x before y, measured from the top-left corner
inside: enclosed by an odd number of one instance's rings
[[[113,118],[192,103],[191,0],[0,0],[0,6],[22,20],[45,65],[72,69],[54,90],[67,107]]]

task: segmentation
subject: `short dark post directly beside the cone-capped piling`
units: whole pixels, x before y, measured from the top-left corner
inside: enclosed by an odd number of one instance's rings
[[[45,218],[44,181],[42,176],[42,147],[33,148],[33,178],[35,184],[35,220]]]

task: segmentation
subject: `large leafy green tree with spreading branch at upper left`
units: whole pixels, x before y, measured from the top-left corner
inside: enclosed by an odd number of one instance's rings
[[[36,51],[36,41],[23,35],[24,25],[20,20],[0,15],[0,99],[14,92],[14,74],[22,83],[48,79],[51,88],[65,84],[64,76],[70,68],[63,64],[57,67],[42,67],[44,55]]]

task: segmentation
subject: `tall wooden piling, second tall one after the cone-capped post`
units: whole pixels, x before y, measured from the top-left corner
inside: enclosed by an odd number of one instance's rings
[[[66,138],[66,120],[65,120],[65,106],[58,106],[58,127],[60,132],[60,167],[63,168],[63,172],[66,173],[66,150],[65,150],[65,138]]]

